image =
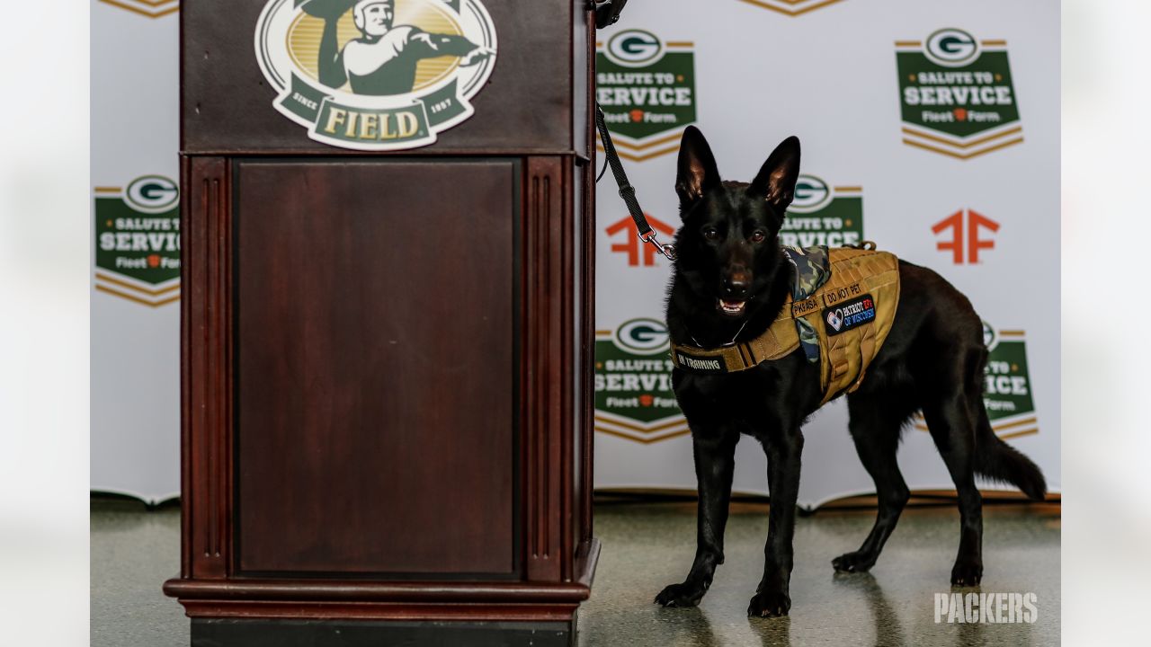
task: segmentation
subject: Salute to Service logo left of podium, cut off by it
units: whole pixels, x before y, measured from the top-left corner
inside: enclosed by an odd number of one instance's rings
[[[96,289],[158,307],[180,298],[180,189],[160,175],[96,190]]]

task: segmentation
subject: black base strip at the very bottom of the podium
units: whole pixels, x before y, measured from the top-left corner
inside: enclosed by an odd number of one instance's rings
[[[392,622],[192,619],[192,647],[570,647],[576,619],[565,622]]]

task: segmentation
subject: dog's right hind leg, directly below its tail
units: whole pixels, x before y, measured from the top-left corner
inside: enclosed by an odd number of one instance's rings
[[[952,586],[975,586],[983,578],[983,500],[975,487],[975,420],[969,389],[958,381],[951,393],[928,396],[923,406],[931,439],[959,494],[959,555]],[[977,403],[982,405],[982,403]]]

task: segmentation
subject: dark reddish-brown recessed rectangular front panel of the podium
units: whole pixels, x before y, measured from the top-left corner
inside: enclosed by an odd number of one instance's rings
[[[236,163],[238,572],[517,574],[519,167]]]

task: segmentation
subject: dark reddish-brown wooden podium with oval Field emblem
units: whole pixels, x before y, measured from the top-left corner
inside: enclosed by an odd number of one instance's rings
[[[477,1],[384,5],[464,24]],[[253,35],[270,5],[312,24],[300,3],[181,6],[183,548],[165,593],[192,645],[573,644],[599,555],[586,0],[485,0],[498,47],[474,114],[389,151],[277,111]]]

